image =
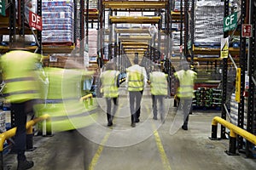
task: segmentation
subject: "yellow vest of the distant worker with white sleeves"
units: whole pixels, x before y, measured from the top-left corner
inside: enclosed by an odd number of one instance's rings
[[[128,73],[128,91],[142,91],[144,88],[143,67],[133,65],[126,69]]]

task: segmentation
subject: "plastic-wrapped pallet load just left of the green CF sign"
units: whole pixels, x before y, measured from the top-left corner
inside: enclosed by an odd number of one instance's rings
[[[195,3],[195,45],[219,45],[223,37],[224,2],[202,0]]]

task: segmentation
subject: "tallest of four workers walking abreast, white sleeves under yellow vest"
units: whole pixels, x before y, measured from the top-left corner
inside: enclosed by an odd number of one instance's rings
[[[148,77],[144,67],[138,65],[138,57],[134,59],[134,65],[126,69],[127,88],[130,98],[131,127],[136,127],[136,122],[140,122],[141,101],[143,89],[147,85]]]

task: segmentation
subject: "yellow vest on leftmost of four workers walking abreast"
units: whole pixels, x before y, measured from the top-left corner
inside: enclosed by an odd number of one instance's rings
[[[101,82],[103,88],[103,96],[106,98],[117,98],[119,89],[117,86],[119,71],[103,71]]]

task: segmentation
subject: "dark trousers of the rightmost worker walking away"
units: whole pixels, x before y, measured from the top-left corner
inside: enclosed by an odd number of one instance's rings
[[[189,114],[192,113],[192,99],[180,99],[179,105],[183,108],[183,126],[188,126]]]

